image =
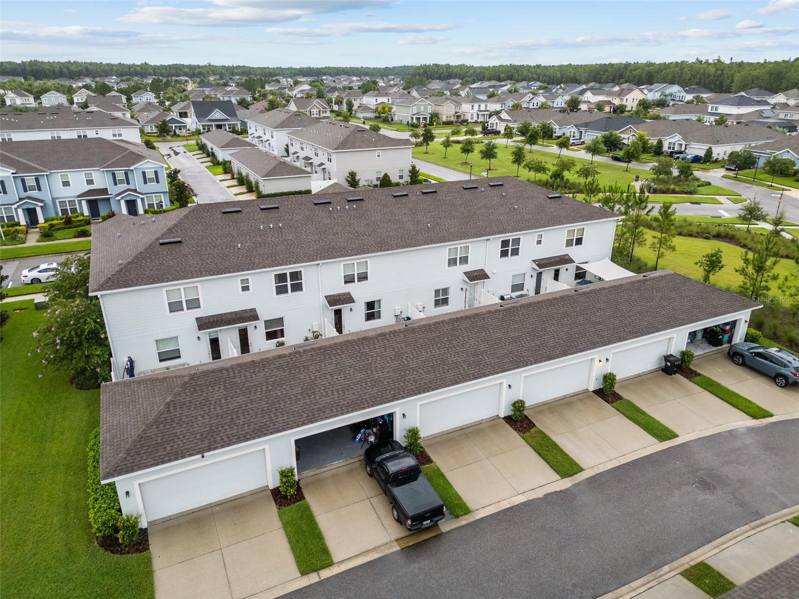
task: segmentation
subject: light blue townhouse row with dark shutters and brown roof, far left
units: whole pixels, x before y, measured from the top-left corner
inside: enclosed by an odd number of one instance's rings
[[[142,214],[169,206],[165,165],[157,150],[129,141],[8,141],[0,144],[0,204],[30,227],[74,212]]]

